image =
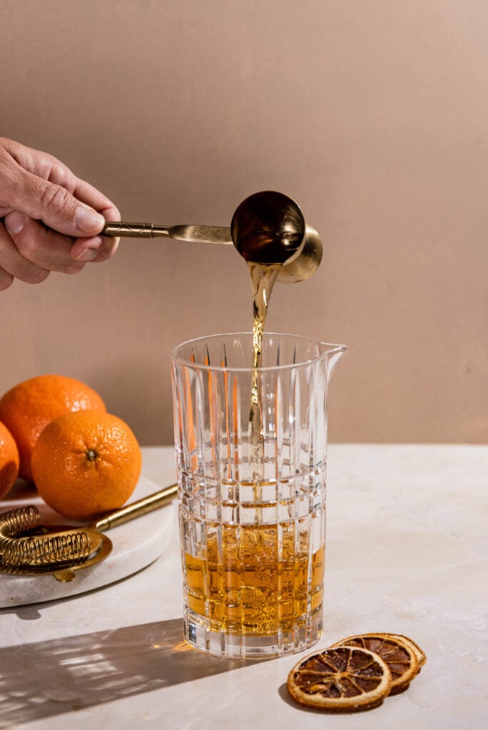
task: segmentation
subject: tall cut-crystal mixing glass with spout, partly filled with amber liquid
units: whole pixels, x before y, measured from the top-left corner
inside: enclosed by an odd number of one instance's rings
[[[346,350],[264,334],[256,437],[252,346],[250,333],[221,334],[172,353],[184,634],[228,658],[321,637],[327,386]]]

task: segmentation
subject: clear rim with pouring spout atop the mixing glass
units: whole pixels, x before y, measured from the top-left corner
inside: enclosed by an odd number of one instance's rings
[[[270,371],[277,371],[277,370],[287,370],[287,369],[294,369],[294,368],[300,368],[304,366],[308,366],[311,364],[319,363],[320,361],[324,359],[329,359],[330,356],[335,355],[336,353],[345,353],[347,350],[347,345],[339,345],[336,342],[322,342],[321,340],[314,339],[313,337],[306,337],[302,334],[292,334],[289,332],[264,332],[263,333],[263,339],[266,339],[267,337],[286,337],[289,339],[295,339],[295,340],[301,340],[302,342],[310,342],[313,345],[316,345],[317,347],[324,347],[327,348],[327,350],[324,350],[324,352],[319,353],[316,357],[308,358],[307,360],[302,360],[296,363],[286,363],[286,364],[280,364],[280,365],[267,365],[267,366],[260,366],[260,367],[253,367],[252,365],[248,365],[245,367],[235,367],[230,365],[211,365],[211,364],[199,364],[195,361],[188,360],[186,357],[182,357],[178,355],[178,350],[181,348],[187,346],[187,345],[197,345],[197,343],[205,342],[209,339],[218,339],[223,337],[252,337],[253,333],[251,331],[241,331],[241,332],[220,332],[216,334],[208,334],[203,335],[202,337],[192,337],[191,339],[186,339],[184,342],[180,342],[178,345],[175,345],[175,347],[172,347],[172,350],[170,352],[170,358],[173,363],[180,364],[189,368],[203,370],[206,372],[270,372]],[[250,353],[251,356],[251,353]]]

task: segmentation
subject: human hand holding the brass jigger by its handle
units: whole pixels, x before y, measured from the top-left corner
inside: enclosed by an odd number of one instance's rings
[[[52,271],[75,274],[87,261],[106,261],[119,239],[98,234],[105,220],[120,218],[61,161],[0,137],[0,290],[14,279],[37,284]]]

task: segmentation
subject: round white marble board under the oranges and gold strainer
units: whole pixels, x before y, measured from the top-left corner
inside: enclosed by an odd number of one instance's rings
[[[129,502],[159,491],[159,486],[145,477],[139,482]],[[66,524],[66,518],[42,502],[31,485],[19,483],[0,500],[0,512],[34,504],[41,512],[42,520]],[[164,552],[172,537],[177,517],[176,500],[154,512],[149,512],[107,531],[113,542],[113,549],[104,561],[77,570],[75,580],[61,583],[53,575],[22,576],[0,573],[0,608],[52,601],[53,599],[76,596],[140,571],[150,565]]]

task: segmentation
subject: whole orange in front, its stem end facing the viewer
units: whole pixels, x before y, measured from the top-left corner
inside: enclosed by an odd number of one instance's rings
[[[95,520],[129,499],[142,456],[129,426],[109,413],[58,416],[37,439],[32,474],[42,499],[64,517]]]

